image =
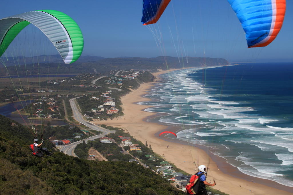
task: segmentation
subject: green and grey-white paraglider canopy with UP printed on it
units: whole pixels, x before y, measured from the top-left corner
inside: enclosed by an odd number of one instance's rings
[[[55,10],[30,11],[0,19],[0,56],[27,25],[38,27],[54,44],[64,63],[75,62],[84,48],[84,38],[76,22]]]

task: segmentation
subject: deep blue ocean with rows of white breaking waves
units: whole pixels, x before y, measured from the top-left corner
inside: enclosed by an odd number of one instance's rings
[[[145,111],[241,172],[293,187],[293,63],[246,63],[160,75]]]

